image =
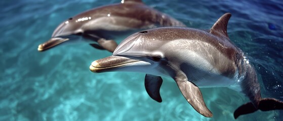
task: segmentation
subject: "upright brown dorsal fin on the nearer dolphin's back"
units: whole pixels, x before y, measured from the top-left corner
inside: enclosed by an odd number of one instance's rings
[[[215,24],[211,27],[210,33],[217,36],[225,36],[228,38],[227,34],[227,24],[231,17],[230,13],[222,15]]]

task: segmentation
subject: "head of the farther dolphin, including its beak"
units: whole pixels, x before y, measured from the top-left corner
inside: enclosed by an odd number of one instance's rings
[[[53,32],[51,39],[42,44],[39,44],[37,50],[45,51],[62,42],[76,40],[79,35],[82,35],[82,33],[84,32],[84,30],[82,29],[83,24],[90,19],[91,17],[75,16],[62,22]]]

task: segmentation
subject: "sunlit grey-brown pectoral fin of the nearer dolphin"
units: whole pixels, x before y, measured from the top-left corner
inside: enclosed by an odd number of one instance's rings
[[[206,117],[212,117],[212,112],[208,109],[197,86],[186,79],[177,78],[175,81],[183,96],[198,113]]]

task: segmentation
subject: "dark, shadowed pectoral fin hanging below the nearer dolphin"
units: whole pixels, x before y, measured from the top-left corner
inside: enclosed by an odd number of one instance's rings
[[[163,80],[159,76],[154,76],[150,74],[145,75],[144,85],[147,94],[157,102],[162,102],[159,89],[161,87]]]

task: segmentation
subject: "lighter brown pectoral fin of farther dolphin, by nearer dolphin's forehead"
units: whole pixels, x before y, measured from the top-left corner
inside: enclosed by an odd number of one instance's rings
[[[114,50],[118,46],[118,44],[114,40],[106,40],[106,39],[101,38],[97,40],[97,42],[101,47],[105,48],[106,50],[110,52],[114,52]]]

